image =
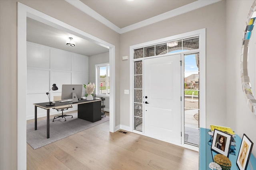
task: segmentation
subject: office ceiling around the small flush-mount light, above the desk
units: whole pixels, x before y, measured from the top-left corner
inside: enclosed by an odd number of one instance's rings
[[[74,39],[76,42],[75,47],[66,45],[68,37]],[[31,18],[27,18],[27,41],[86,56],[106,53],[109,51],[109,49],[105,47]]]

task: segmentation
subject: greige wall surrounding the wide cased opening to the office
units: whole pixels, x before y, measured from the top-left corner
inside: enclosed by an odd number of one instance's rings
[[[17,2],[116,47],[116,125],[120,124],[119,34],[64,0],[0,0],[0,169],[17,169]],[[68,10],[68,12],[66,12]],[[72,14],[72,15],[70,15]]]

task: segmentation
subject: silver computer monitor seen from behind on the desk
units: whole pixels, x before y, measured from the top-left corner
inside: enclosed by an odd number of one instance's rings
[[[62,84],[61,100],[72,99],[73,103],[82,98],[82,84]]]

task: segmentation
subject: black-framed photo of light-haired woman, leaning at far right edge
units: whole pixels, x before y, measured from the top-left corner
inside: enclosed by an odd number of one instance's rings
[[[252,152],[253,143],[252,141],[244,134],[242,138],[242,143],[238,152],[236,165],[239,170],[246,170],[250,155]]]

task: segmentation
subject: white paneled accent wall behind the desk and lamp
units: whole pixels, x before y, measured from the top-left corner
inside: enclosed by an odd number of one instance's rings
[[[87,84],[88,57],[27,42],[27,120],[34,119],[34,103],[49,101],[46,92],[54,83],[58,90],[50,91],[51,101],[53,96],[61,96],[62,84]],[[77,105],[73,105],[68,111],[76,109]],[[46,116],[45,109],[38,108],[37,113],[38,117]],[[55,109],[50,109],[50,115],[56,113]]]

